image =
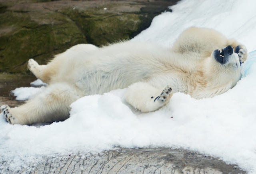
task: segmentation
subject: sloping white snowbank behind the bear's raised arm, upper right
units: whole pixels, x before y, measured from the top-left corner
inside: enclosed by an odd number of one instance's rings
[[[216,29],[253,51],[256,49],[255,5],[254,0],[182,0],[171,7],[172,13],[156,16],[151,26],[133,40],[170,46],[183,30],[197,26]]]

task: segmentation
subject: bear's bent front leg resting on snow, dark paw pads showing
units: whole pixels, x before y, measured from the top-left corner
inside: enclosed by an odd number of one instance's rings
[[[168,103],[172,97],[172,88],[157,89],[144,82],[130,85],[125,94],[125,99],[136,109],[142,112],[155,111]]]

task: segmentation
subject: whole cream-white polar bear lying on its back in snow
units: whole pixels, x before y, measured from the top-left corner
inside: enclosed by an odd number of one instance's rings
[[[47,65],[30,59],[28,68],[48,86],[24,105],[3,105],[1,110],[11,124],[63,121],[78,98],[127,87],[130,105],[155,111],[176,92],[202,99],[234,87],[247,55],[236,40],[196,27],[182,32],[171,48],[131,41],[104,47],[80,44]]]

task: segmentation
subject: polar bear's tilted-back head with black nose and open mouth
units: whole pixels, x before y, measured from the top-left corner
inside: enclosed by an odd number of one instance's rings
[[[213,97],[234,87],[241,78],[238,54],[228,45],[215,49],[210,57],[202,59],[197,67],[194,98]]]

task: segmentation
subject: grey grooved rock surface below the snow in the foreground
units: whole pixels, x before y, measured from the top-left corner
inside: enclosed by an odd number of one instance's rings
[[[20,170],[0,159],[2,173],[60,174],[244,174],[237,166],[187,150],[143,148],[104,151],[99,154],[66,154],[42,157],[40,162],[23,161]]]

